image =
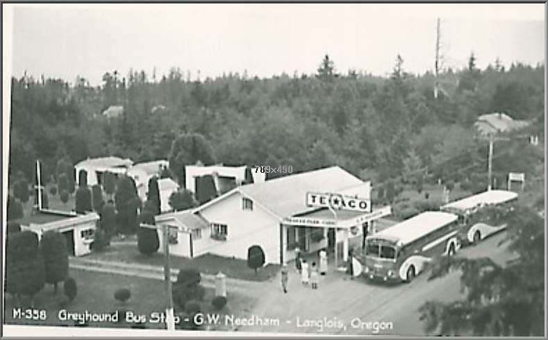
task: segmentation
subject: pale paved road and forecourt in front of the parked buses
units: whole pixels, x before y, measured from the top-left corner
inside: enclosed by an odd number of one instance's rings
[[[506,247],[498,246],[503,238],[504,234],[495,235],[479,246],[460,250],[460,255],[470,258],[489,256],[499,263],[506,262],[512,256]],[[254,315],[279,319],[280,324],[266,325],[268,322],[263,320],[263,325],[243,326],[240,330],[365,335],[375,334],[373,324],[367,322],[385,321],[387,326],[388,322],[392,323],[392,329],[379,330],[378,334],[421,336],[424,331],[417,309],[426,300],[452,301],[461,297],[457,272],[430,282],[426,276],[419,275],[410,284],[386,286],[362,278],[348,280],[341,273],[332,273],[320,282],[319,289],[313,290],[302,287],[297,273],[292,271],[289,293],[281,292],[279,282],[271,282],[274,284],[269,289],[270,293],[261,299],[254,310]],[[306,325],[305,321],[322,321],[324,325],[333,325],[333,328],[322,329],[317,322]],[[344,328],[338,328],[337,321]]]

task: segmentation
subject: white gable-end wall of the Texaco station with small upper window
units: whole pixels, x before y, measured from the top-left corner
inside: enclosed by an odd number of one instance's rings
[[[243,196],[235,192],[201,210],[210,223],[228,226],[226,241],[210,238],[210,230],[202,230],[201,240],[194,241],[194,256],[213,253],[247,259],[247,249],[258,245],[265,252],[265,263],[280,263],[280,223],[254,202],[253,210],[242,210]]]

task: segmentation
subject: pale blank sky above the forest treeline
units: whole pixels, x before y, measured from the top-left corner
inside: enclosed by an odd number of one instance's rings
[[[99,85],[106,71],[191,78],[247,71],[315,73],[329,54],[337,71],[385,76],[398,54],[413,74],[434,65],[436,18],[444,66],[545,62],[544,4],[17,4],[3,5],[13,35],[13,75],[77,75]],[[6,11],[7,10],[7,11]],[[6,18],[6,17],[5,17]],[[8,26],[9,28],[9,26]],[[6,32],[6,30],[4,30]],[[7,31],[10,31],[9,29]],[[7,33],[9,34],[9,33]],[[6,53],[6,52],[5,52]],[[5,55],[6,57],[6,55]],[[8,65],[9,66],[9,65]]]

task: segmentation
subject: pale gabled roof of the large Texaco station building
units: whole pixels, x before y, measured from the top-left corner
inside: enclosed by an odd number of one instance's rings
[[[337,192],[359,195],[369,183],[363,182],[340,167],[329,167],[290,176],[274,178],[260,183],[242,185],[219,196],[208,203],[197,207],[199,212],[227,196],[240,192],[251,198],[280,219],[284,217],[317,210],[317,207],[306,206],[307,192]]]

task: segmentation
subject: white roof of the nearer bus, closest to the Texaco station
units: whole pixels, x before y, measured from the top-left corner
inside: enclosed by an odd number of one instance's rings
[[[456,221],[457,218],[455,214],[449,212],[423,212],[397,223],[395,226],[377,232],[371,238],[409,244],[438,228],[447,226],[447,224]]]

